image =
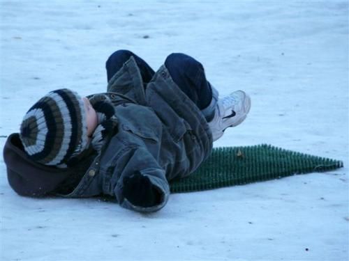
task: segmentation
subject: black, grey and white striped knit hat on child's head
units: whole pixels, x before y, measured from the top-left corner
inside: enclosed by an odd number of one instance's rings
[[[42,97],[24,116],[20,139],[34,161],[66,167],[88,143],[82,97],[68,89],[53,90]]]

